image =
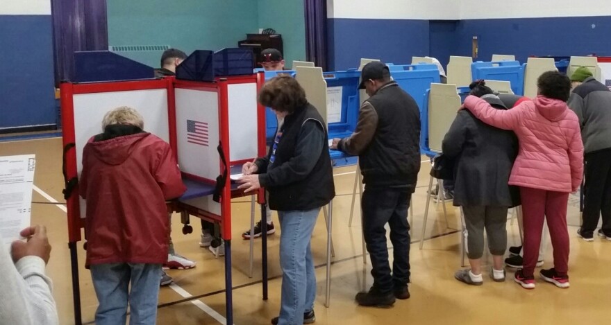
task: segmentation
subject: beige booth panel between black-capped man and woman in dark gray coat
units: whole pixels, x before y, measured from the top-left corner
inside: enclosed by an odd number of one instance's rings
[[[442,152],[442,141],[460,108],[456,85],[430,84],[428,95],[428,148]]]

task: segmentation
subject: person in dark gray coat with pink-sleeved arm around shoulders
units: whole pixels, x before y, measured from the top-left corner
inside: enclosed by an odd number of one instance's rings
[[[496,109],[507,109],[483,80],[471,83],[471,95]],[[511,131],[500,130],[462,109],[442,143],[444,155],[455,160],[454,205],[462,207],[467,225],[467,256],[471,270],[455,273],[458,281],[483,283],[481,257],[484,229],[492,254],[493,281],[505,281],[503,255],[507,248],[507,211],[519,204],[517,188],[508,185],[518,141]]]

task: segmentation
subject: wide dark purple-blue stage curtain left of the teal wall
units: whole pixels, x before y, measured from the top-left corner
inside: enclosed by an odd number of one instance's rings
[[[108,51],[106,0],[51,0],[56,85],[74,76],[74,52]]]

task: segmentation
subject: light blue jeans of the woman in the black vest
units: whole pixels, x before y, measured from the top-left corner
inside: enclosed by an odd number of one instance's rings
[[[278,325],[303,324],[303,313],[314,309],[316,274],[310,239],[320,208],[278,211],[282,299]]]

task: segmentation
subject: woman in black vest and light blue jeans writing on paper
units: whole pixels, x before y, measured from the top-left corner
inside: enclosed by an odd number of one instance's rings
[[[310,238],[321,207],[335,196],[326,125],[289,76],[269,80],[259,103],[278,116],[276,138],[266,157],[244,164],[238,182],[246,192],[264,187],[280,219],[282,299],[280,317],[271,323],[310,324],[316,297]]]

